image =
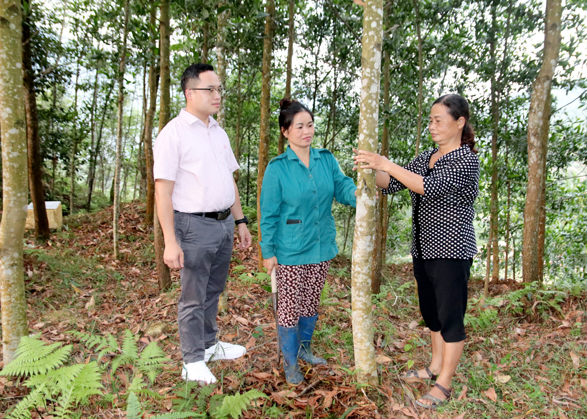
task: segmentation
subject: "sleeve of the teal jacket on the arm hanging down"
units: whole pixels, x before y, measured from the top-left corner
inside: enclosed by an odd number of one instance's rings
[[[263,175],[263,184],[261,186],[261,199],[259,202],[261,209],[261,252],[264,259],[272,258],[276,255],[275,234],[279,225],[282,197],[282,186],[275,170],[269,165]]]

